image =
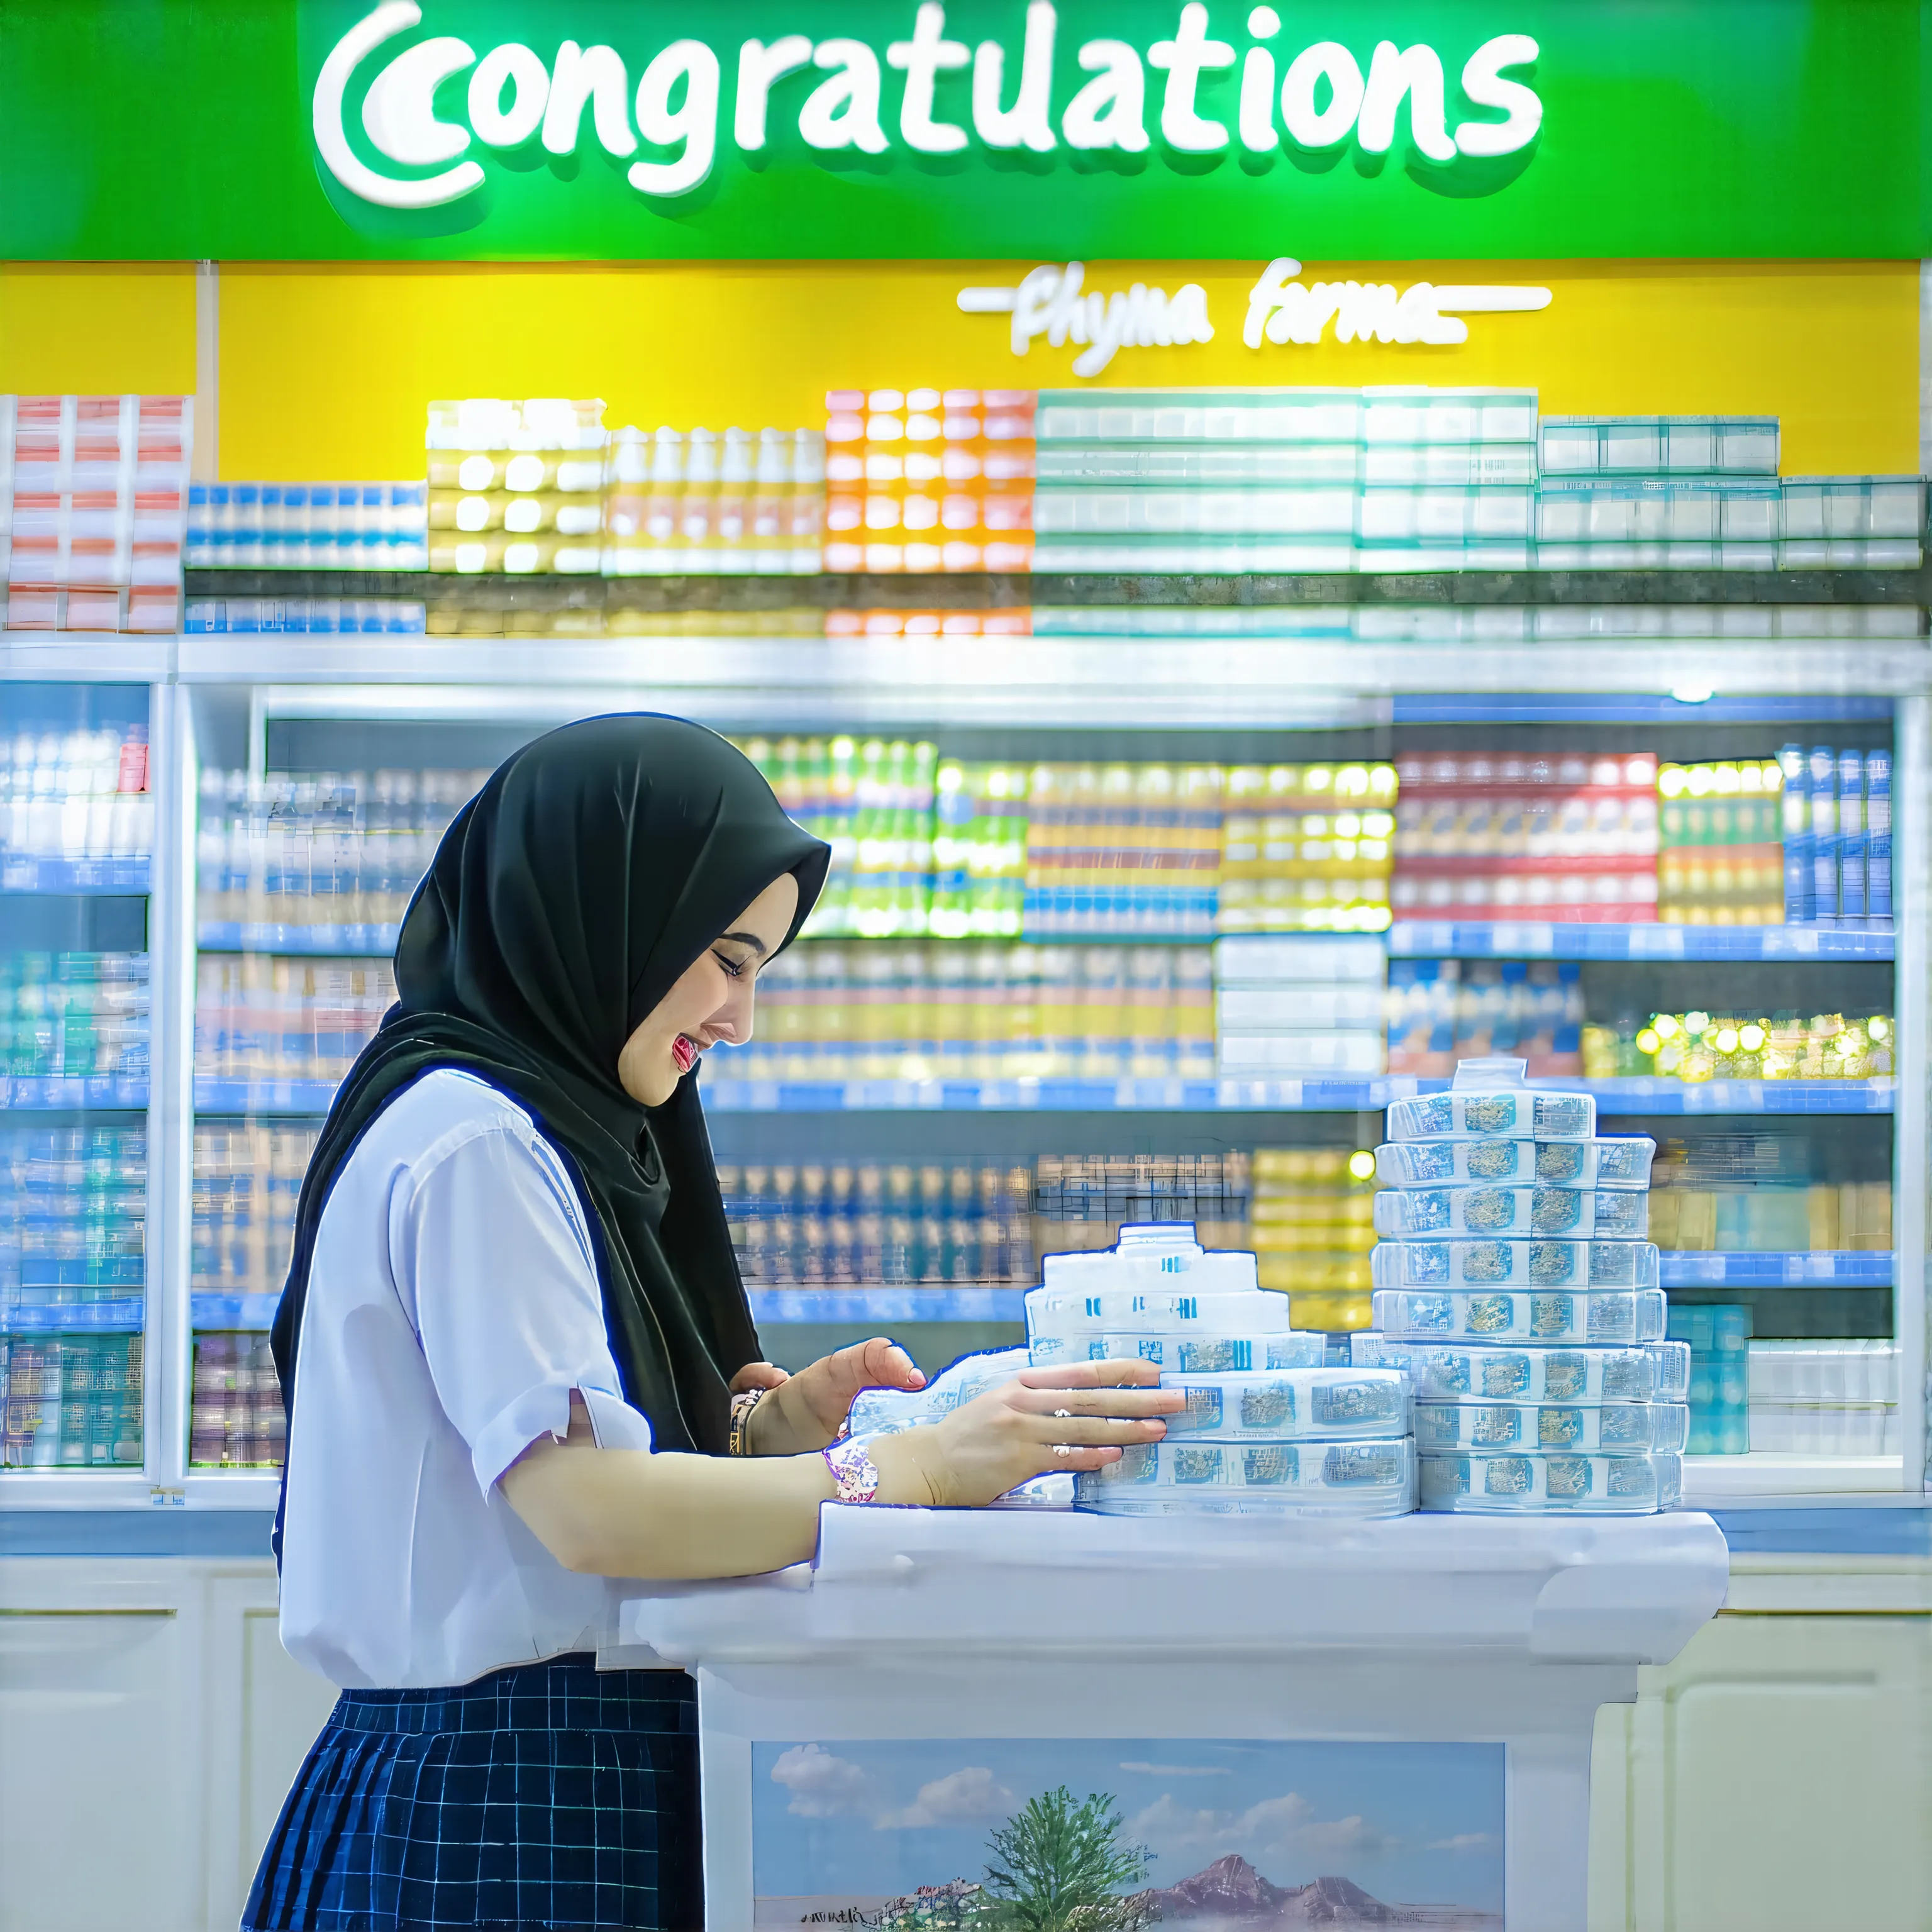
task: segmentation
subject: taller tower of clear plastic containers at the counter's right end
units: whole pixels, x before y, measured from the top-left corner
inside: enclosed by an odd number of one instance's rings
[[[1389,1107],[1374,1331],[1414,1385],[1422,1509],[1650,1515],[1681,1492],[1687,1350],[1662,1343],[1646,1138],[1588,1094],[1464,1061]]]

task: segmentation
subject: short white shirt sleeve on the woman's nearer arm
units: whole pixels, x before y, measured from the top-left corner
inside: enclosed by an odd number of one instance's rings
[[[485,1493],[539,1435],[570,1428],[572,1389],[601,1447],[651,1447],[620,1393],[583,1213],[522,1124],[506,1113],[446,1136],[390,1196],[396,1289]]]

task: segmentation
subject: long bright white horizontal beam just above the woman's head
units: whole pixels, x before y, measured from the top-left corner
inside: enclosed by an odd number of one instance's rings
[[[1586,703],[1575,697],[1588,674]],[[1287,638],[185,638],[185,682],[269,719],[564,723],[655,705],[732,730],[1368,728],[1414,711],[1509,721],[1532,694],[1590,723],[1884,719],[1932,686],[1895,643],[1354,645]],[[1437,701],[1457,682],[1474,699]],[[1660,699],[1660,692],[1683,692]],[[1857,699],[1818,694],[1864,694]],[[1416,696],[1405,696],[1416,694]],[[1721,694],[1723,703],[1712,694]],[[1733,694],[1745,694],[1731,703]]]

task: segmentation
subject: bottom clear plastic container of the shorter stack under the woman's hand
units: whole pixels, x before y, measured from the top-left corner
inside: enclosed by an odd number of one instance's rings
[[[1399,1517],[1414,1509],[1414,1437],[1349,1443],[1138,1443],[1074,1474],[1074,1507],[1126,1515],[1225,1511]]]

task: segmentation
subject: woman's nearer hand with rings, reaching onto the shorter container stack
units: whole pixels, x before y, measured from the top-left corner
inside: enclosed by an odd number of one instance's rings
[[[1161,1418],[1186,1406],[1159,1379],[1151,1362],[1022,1368],[943,1422],[875,1437],[877,1501],[978,1509],[1032,1476],[1117,1463],[1122,1449],[1159,1441]]]

